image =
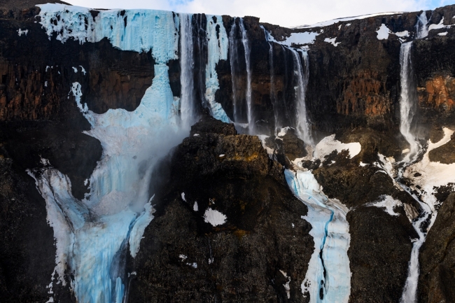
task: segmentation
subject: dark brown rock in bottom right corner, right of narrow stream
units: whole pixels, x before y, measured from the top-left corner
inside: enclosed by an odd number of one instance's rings
[[[419,302],[455,301],[455,193],[442,203],[421,248]]]

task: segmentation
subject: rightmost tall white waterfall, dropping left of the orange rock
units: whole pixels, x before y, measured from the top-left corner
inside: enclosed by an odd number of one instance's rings
[[[404,162],[409,162],[420,148],[419,142],[412,134],[412,119],[416,113],[418,97],[412,77],[411,48],[412,42],[402,43],[400,48],[400,132],[410,146]]]

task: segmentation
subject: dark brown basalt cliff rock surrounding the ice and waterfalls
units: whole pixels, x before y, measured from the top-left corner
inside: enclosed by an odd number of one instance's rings
[[[55,241],[45,201],[26,170],[42,167],[41,158],[50,160],[69,176],[73,196],[82,199],[88,192],[84,181],[102,157],[101,143],[83,133],[90,124],[69,94],[72,83],[81,84],[82,101],[95,113],[110,108],[133,111],[155,74],[151,52],[119,50],[107,38],[83,44],[49,38],[37,22],[40,9],[34,4],[38,2],[0,4],[1,302],[46,302],[46,286],[55,267]],[[283,121],[295,125],[297,110],[293,52],[272,43],[271,60],[262,27],[278,41],[291,33],[311,31],[318,32],[309,45],[307,63],[311,132],[316,142],[336,134],[339,141],[360,142],[362,147],[353,158],[338,150],[321,162],[304,163],[325,195],[349,207],[349,302],[398,302],[407,278],[411,239],[417,237],[407,216],[416,218],[421,209],[384,170],[372,165],[381,161],[378,153],[400,160],[408,147],[399,130],[401,41],[394,34],[378,40],[376,31],[386,24],[395,33],[409,31],[405,39],[411,41],[420,13],[300,29],[244,17],[251,43],[251,99],[258,133],[273,135],[274,127]],[[454,24],[454,15],[455,6],[427,12],[431,24]],[[195,15],[193,22],[203,29],[207,18]],[[239,20],[223,16],[228,34],[235,22],[238,25]],[[19,29],[28,29],[28,34],[19,35]],[[442,31],[448,34],[438,35]],[[207,45],[197,39],[199,34],[193,32],[193,40],[204,54]],[[325,38],[336,38],[339,44]],[[236,45],[243,54],[242,43]],[[435,29],[428,38],[413,42],[419,97],[414,124],[422,141],[439,141],[441,127],[455,127],[454,49],[455,27]],[[197,60],[194,78],[200,90],[195,94],[202,98],[200,75],[206,62]],[[233,82],[229,56],[218,62],[216,101],[234,120],[235,83],[241,108],[237,122],[246,122],[247,74],[242,56],[238,64]],[[179,97],[179,62],[172,60],[168,66],[172,92]],[[274,149],[272,159],[257,136],[237,134],[232,124],[204,115],[190,136],[162,160],[151,184],[155,218],[144,232],[137,257],[125,261],[137,273],[130,277],[130,302],[307,302],[300,284],[314,251],[312,227],[301,219],[307,206],[293,195],[283,175],[283,168],[292,168],[292,161],[307,155],[307,150],[293,131],[283,138],[270,137],[266,145]],[[451,139],[431,150],[430,160],[454,163],[453,146]],[[451,191],[444,193],[445,202],[421,248],[419,302],[455,302]],[[369,205],[383,195],[402,202],[395,207],[398,216]],[[227,224],[207,223],[206,209],[225,214]],[[54,283],[53,292],[59,302],[75,301],[69,288]]]

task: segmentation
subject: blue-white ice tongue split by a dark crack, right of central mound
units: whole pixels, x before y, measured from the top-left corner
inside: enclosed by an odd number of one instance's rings
[[[314,239],[302,294],[309,295],[310,303],[347,303],[351,294],[347,255],[351,236],[346,221],[349,209],[337,199],[328,199],[311,171],[286,169],[285,176],[294,195],[308,207],[302,219],[311,224],[309,234]]]

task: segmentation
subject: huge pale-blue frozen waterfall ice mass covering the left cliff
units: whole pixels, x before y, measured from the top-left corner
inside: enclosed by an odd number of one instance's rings
[[[72,197],[69,179],[56,169],[45,168],[36,180],[54,228],[59,279],[64,283],[67,266],[74,275],[71,284],[79,302],[120,302],[127,277],[119,258],[127,253],[127,242],[130,254],[136,255],[145,227],[153,219],[148,193],[153,166],[187,135],[179,130],[179,100],[172,95],[166,65],[169,59],[178,59],[179,18],[158,10],[101,10],[93,20],[87,8],[40,7],[47,34],[56,33],[62,43],[68,38],[85,43],[106,37],[122,50],[151,50],[157,62],[153,83],[132,112],[93,113],[81,103],[80,84],[73,83],[71,92],[92,126],[86,133],[99,139],[103,148],[102,160],[90,177],[90,194],[83,201]]]

